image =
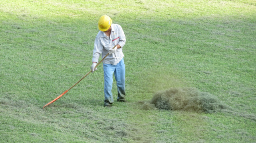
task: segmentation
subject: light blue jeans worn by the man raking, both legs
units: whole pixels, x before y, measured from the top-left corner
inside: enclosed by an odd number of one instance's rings
[[[125,63],[122,59],[117,65],[103,64],[104,70],[104,106],[114,102],[112,95],[113,73],[117,81],[117,99],[125,99]]]

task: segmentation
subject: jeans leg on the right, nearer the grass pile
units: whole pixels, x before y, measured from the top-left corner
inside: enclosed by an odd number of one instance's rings
[[[123,59],[116,65],[114,73],[117,81],[117,99],[125,99],[125,63]]]

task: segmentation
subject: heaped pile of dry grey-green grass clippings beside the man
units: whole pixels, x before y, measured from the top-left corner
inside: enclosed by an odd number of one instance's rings
[[[212,113],[225,108],[214,95],[194,88],[171,88],[155,93],[150,102],[158,109]],[[149,107],[149,105],[147,105]]]

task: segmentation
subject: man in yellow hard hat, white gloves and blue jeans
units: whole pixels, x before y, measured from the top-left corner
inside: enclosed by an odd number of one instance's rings
[[[117,102],[126,102],[125,99],[125,64],[123,46],[125,45],[125,34],[118,24],[112,24],[112,19],[103,15],[98,22],[99,33],[94,42],[92,73],[97,70],[95,66],[99,61],[99,56],[105,57],[103,60],[104,70],[104,106],[111,107],[114,102],[112,95],[113,73],[117,82]]]

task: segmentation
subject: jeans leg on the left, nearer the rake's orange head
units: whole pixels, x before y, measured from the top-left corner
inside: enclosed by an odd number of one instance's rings
[[[113,85],[113,72],[115,70],[115,65],[103,64],[104,70],[104,106],[112,104],[114,102],[112,95],[112,85]]]

